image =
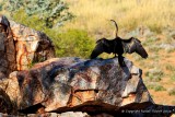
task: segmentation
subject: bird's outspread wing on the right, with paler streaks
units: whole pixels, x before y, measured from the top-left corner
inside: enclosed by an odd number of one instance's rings
[[[132,54],[137,52],[139,54],[142,58],[148,58],[148,54],[143,46],[141,45],[141,42],[137,38],[131,37],[130,39],[122,39],[122,47],[125,52]]]

